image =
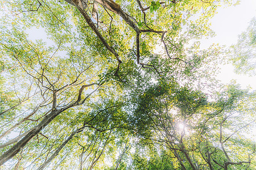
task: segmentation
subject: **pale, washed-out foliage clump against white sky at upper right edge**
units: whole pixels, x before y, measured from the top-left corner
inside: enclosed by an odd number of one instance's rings
[[[232,45],[229,53],[230,61],[236,73],[255,75],[256,18],[251,19],[246,32],[238,36],[237,44]]]

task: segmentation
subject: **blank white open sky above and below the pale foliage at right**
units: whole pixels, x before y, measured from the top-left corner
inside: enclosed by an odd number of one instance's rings
[[[216,36],[203,41],[201,43],[202,47],[207,48],[213,43],[226,46],[236,44],[238,35],[246,31],[250,20],[254,16],[256,17],[256,0],[242,0],[240,5],[219,8],[218,14],[210,20]],[[223,83],[229,83],[230,80],[236,79],[242,88],[250,85],[256,90],[256,76],[249,77],[235,74],[232,65],[223,66],[218,79]]]

